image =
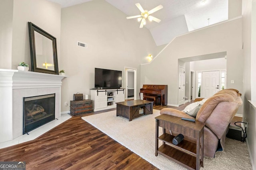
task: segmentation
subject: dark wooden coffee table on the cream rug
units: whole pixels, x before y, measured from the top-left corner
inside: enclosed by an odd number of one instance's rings
[[[154,102],[147,100],[128,100],[116,103],[116,116],[122,116],[129,121],[142,115],[153,114]],[[142,112],[143,109],[143,112]]]

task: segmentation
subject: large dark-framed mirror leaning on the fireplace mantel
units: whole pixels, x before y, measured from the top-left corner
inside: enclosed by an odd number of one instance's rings
[[[32,71],[59,74],[56,38],[31,22],[28,32]]]

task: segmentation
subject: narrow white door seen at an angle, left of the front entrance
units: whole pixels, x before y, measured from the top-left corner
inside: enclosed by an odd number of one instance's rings
[[[185,68],[179,66],[179,103],[182,105],[185,103]]]

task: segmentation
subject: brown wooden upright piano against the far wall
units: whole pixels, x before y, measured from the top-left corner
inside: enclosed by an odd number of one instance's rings
[[[161,106],[167,105],[168,103],[167,85],[143,84],[143,87],[140,89],[140,93],[143,93],[143,96],[159,96],[161,98]]]

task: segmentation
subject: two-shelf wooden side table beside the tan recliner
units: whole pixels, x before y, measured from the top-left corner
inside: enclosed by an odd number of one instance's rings
[[[162,114],[156,119],[156,156],[161,154],[166,158],[188,168],[190,170],[200,170],[204,166],[204,123],[182,120],[180,117]],[[163,128],[163,135],[160,137],[158,128]],[[178,145],[172,143],[175,137],[166,133],[166,129],[181,133],[196,139],[196,143],[184,139]],[[185,137],[186,138],[186,137]],[[163,141],[163,145],[158,148],[158,140]],[[168,145],[166,145],[168,143]]]

